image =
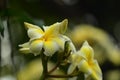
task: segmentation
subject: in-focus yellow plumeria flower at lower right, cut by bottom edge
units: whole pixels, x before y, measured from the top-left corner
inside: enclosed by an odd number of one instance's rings
[[[91,77],[92,80],[102,80],[101,69],[94,59],[94,51],[87,41],[84,42],[78,52],[71,54],[70,62],[68,74],[71,74],[77,67],[79,71],[85,73],[85,78]]]

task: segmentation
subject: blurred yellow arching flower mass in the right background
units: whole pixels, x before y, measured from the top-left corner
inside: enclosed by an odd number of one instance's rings
[[[95,26],[82,24],[74,26],[74,29],[69,32],[68,36],[76,47],[80,46],[84,40],[95,44],[92,47],[96,53],[95,58],[100,64],[109,60],[116,66],[120,65],[120,48],[113,42],[113,38],[106,31]]]

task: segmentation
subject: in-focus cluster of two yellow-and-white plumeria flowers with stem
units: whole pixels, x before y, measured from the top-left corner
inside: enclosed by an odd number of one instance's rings
[[[67,29],[67,24],[68,20],[65,19],[62,22],[57,22],[53,25],[40,28],[39,26],[25,22],[30,40],[19,45],[21,47],[20,51],[24,53],[33,53],[34,55],[44,55],[42,56],[43,69],[46,69],[43,70],[44,78],[46,74],[46,77],[51,76],[50,72],[47,71],[47,63],[44,62],[47,62],[48,59],[44,57],[51,57],[56,52],[67,52],[67,56],[62,55],[62,58],[66,58],[68,63],[70,63],[68,68],[68,78],[69,74],[71,75],[76,69],[78,69],[76,73],[83,72],[85,74],[85,79],[92,78],[94,80],[102,80],[102,72],[98,62],[94,59],[94,51],[92,47],[87,41],[85,41],[81,49],[76,51],[72,41],[64,35]],[[65,44],[66,42],[69,42],[67,47]],[[53,68],[53,70],[54,69],[56,69],[56,67]]]

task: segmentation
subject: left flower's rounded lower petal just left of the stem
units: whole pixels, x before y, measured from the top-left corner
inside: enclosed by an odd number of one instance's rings
[[[43,41],[42,40],[33,40],[30,43],[30,50],[34,55],[39,55],[41,52],[41,49],[43,47]]]

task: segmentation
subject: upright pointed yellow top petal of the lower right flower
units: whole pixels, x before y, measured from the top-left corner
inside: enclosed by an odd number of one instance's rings
[[[85,41],[80,49],[81,56],[86,58],[86,60],[92,60],[94,57],[94,51],[92,47]]]

